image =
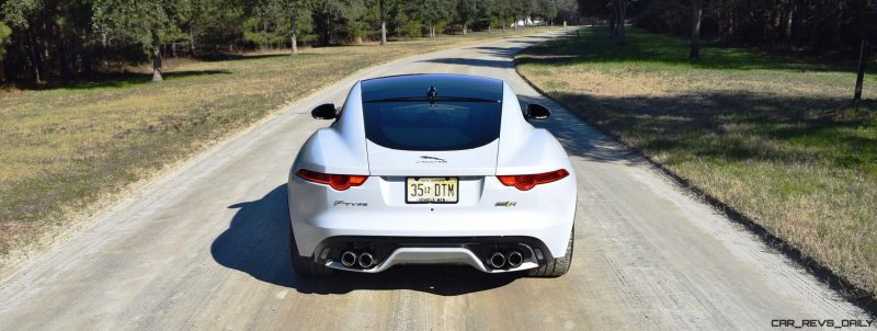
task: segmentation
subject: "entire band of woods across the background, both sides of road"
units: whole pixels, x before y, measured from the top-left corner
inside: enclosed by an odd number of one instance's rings
[[[534,24],[605,24],[854,59],[876,0],[0,0],[0,83],[41,87],[152,62],[301,45],[386,43]],[[522,26],[520,23],[524,22]]]

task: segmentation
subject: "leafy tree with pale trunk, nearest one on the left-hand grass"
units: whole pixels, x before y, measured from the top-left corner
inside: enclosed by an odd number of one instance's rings
[[[94,24],[146,46],[152,58],[152,81],[161,81],[161,35],[173,27],[175,4],[173,0],[94,0]]]

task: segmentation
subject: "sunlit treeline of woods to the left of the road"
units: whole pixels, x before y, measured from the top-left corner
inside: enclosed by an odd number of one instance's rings
[[[0,82],[39,87],[148,61],[161,80],[162,56],[519,28],[548,24],[558,5],[574,10],[554,0],[2,0]]]

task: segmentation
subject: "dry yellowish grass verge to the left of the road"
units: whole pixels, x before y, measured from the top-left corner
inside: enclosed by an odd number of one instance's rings
[[[311,48],[228,60],[169,60],[166,81],[110,75],[0,94],[0,258],[72,213],[356,70],[467,43],[544,32]],[[0,259],[2,260],[2,259]]]

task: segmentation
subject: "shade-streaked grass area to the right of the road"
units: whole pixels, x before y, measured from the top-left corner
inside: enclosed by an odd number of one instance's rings
[[[605,27],[519,55],[536,85],[850,282],[877,292],[877,75]],[[872,65],[872,68],[875,66]]]

